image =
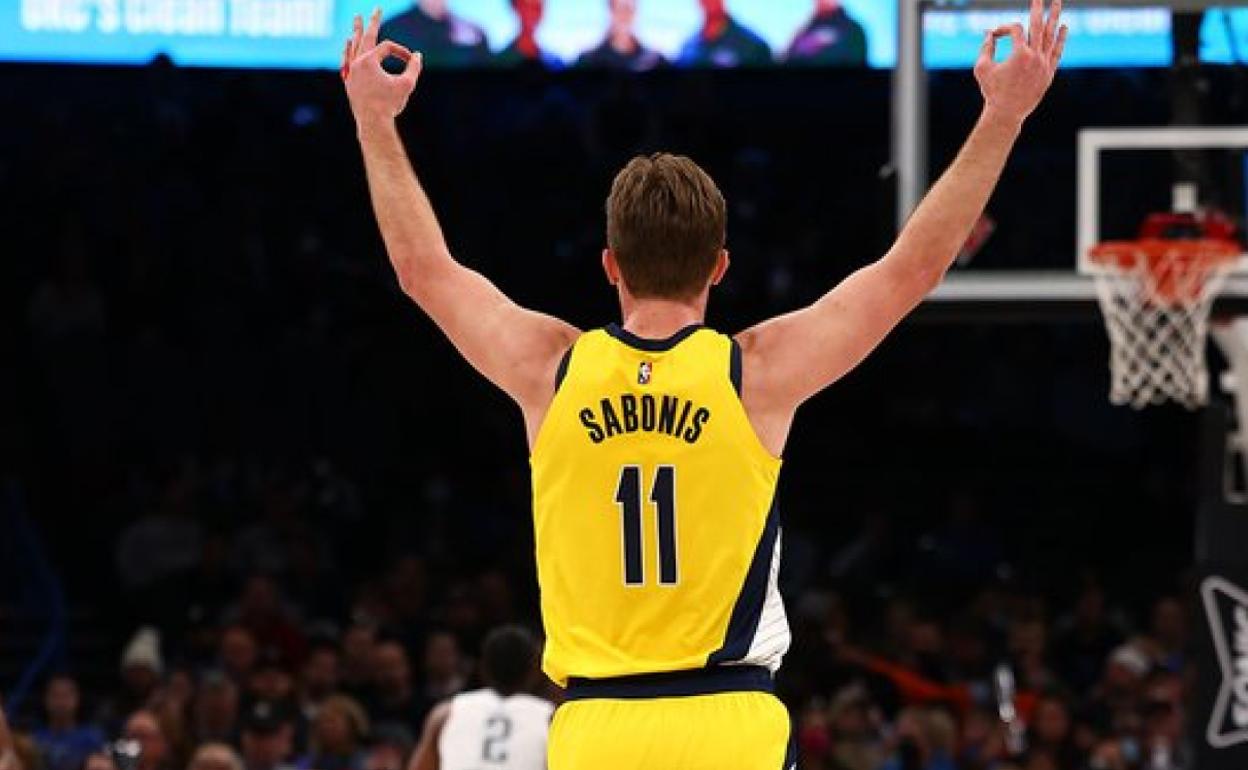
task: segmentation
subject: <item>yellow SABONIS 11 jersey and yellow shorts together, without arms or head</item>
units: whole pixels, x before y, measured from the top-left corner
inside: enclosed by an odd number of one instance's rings
[[[560,371],[532,458],[543,665],[568,688],[550,770],[790,768],[780,461],[740,348],[608,327]]]

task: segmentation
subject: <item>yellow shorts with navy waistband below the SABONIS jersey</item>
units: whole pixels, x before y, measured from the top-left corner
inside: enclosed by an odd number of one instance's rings
[[[766,674],[770,684],[770,674]],[[629,678],[639,679],[639,678]],[[622,680],[614,680],[622,681]],[[688,683],[686,683],[688,684]],[[791,723],[764,688],[640,688],[597,696],[569,688],[550,726],[550,770],[789,770]],[[623,695],[623,696],[619,696]]]

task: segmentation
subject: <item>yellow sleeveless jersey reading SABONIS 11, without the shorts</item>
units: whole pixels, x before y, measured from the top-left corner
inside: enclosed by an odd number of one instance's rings
[[[530,458],[555,683],[779,668],[780,459],[740,373],[735,341],[703,326],[663,341],[609,326],[564,358]]]

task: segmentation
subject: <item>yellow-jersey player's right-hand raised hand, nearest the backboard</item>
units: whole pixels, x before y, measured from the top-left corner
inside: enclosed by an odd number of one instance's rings
[[[1027,30],[1021,24],[1007,24],[987,32],[975,64],[985,109],[1020,122],[1036,110],[1053,85],[1057,65],[1062,61],[1067,29],[1060,24],[1061,19],[1062,0],[1053,0],[1047,19],[1045,0],[1031,0]],[[998,62],[996,52],[1001,37],[1010,37],[1013,50],[1008,59]]]

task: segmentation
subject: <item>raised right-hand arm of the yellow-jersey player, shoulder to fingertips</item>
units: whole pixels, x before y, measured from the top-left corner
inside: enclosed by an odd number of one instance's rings
[[[1060,16],[1060,0],[1047,17],[1043,0],[1032,0],[1030,29],[1016,24],[985,35],[975,66],[983,114],[884,258],[810,307],[739,336],[744,394],[756,422],[771,416],[786,432],[802,401],[857,366],[943,277],[987,205],[1023,121],[1053,82],[1066,42]],[[1002,62],[995,60],[1000,37],[1013,44]]]

